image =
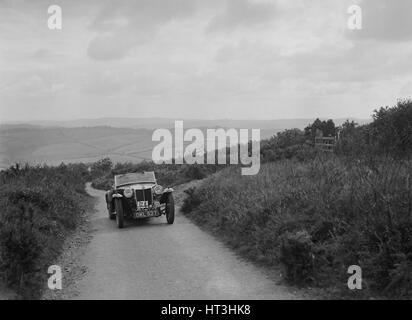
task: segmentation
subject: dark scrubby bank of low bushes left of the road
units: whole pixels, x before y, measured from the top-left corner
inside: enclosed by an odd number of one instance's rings
[[[35,299],[68,234],[91,199],[85,165],[14,166],[0,173],[0,277]]]

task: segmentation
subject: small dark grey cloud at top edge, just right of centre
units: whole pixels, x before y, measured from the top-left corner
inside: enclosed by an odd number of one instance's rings
[[[224,11],[208,24],[207,31],[229,31],[270,21],[276,15],[274,2],[227,0]]]

